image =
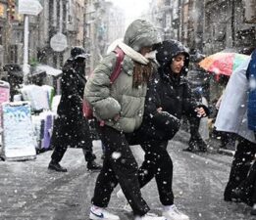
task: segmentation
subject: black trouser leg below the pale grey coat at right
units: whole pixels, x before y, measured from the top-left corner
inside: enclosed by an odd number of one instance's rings
[[[231,164],[230,179],[224,193],[225,198],[229,198],[231,191],[238,187],[242,181],[246,179],[255,154],[256,144],[239,137],[237,149]]]

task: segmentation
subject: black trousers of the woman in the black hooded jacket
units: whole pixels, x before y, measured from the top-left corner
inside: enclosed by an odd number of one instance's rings
[[[161,203],[174,204],[173,161],[167,152],[168,141],[148,140],[140,145],[145,152],[144,161],[138,171],[140,188],[155,178]]]

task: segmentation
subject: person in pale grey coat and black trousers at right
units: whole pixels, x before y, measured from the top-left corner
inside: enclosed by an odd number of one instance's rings
[[[248,72],[249,64],[250,57],[247,56],[245,61],[231,73],[215,126],[218,131],[232,132],[238,135],[238,144],[231,163],[230,177],[224,191],[224,199],[226,201],[243,201],[252,205],[252,188],[245,187],[246,184],[242,183],[247,179],[256,154],[255,137],[253,131],[248,129],[249,120],[246,118],[249,89],[246,71]],[[249,190],[246,192],[248,193],[246,197],[244,197],[241,189]]]

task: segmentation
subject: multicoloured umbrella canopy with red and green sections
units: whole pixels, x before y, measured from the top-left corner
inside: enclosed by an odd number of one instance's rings
[[[220,52],[206,57],[199,63],[199,66],[216,74],[230,75],[248,58],[249,56],[243,54]]]

